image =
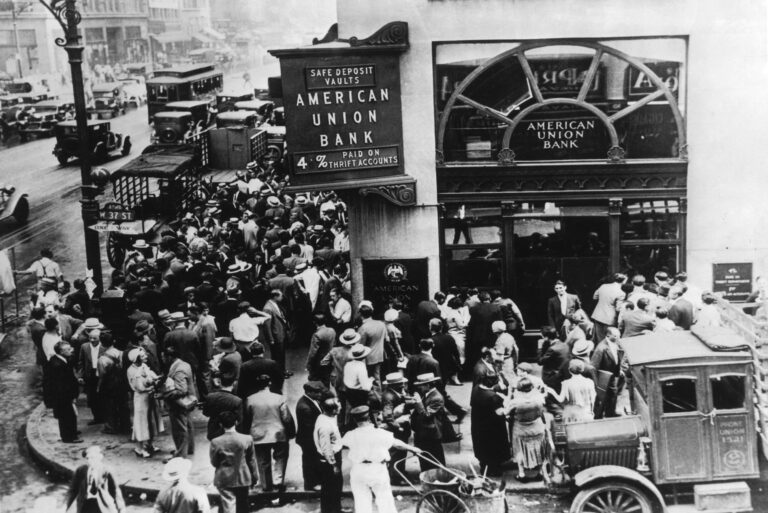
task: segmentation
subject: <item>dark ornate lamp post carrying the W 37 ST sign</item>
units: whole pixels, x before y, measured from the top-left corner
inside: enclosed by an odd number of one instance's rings
[[[83,50],[80,43],[77,26],[82,17],[76,9],[76,0],[39,0],[43,7],[53,14],[56,21],[64,30],[64,37],[57,37],[55,42],[67,51],[69,65],[72,70],[72,91],[75,97],[75,119],[77,121],[78,156],[80,159],[80,191],[83,231],[85,232],[85,260],[88,269],[93,273],[96,283],[95,295],[104,289],[101,274],[101,248],[99,233],[91,230],[99,217],[99,202],[96,200],[99,189],[93,183],[91,175],[91,145],[88,141],[88,113],[85,106],[85,87],[83,85]]]

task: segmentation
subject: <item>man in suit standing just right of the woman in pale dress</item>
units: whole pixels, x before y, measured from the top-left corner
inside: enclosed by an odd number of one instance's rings
[[[179,404],[178,400],[195,396],[192,368],[181,359],[178,349],[173,345],[165,348],[164,357],[168,365],[168,379],[173,381],[173,389],[167,390],[164,395],[168,405],[171,438],[176,447],[173,456],[186,458],[195,453],[195,433],[190,420],[191,411]]]

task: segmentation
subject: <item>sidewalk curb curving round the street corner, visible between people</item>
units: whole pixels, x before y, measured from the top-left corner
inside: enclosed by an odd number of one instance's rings
[[[38,426],[41,422],[41,418],[45,410],[46,410],[45,405],[40,404],[30,414],[30,416],[27,418],[26,423],[24,424],[25,436],[23,439],[26,440],[27,448],[29,449],[29,454],[32,457],[32,459],[35,460],[35,462],[37,462],[44,470],[48,471],[54,476],[61,477],[62,479],[65,479],[65,480],[69,480],[74,475],[75,468],[69,467],[67,465],[64,465],[56,461],[53,457],[46,454],[46,452],[48,451],[44,451],[42,449],[43,444],[46,444],[47,442],[45,442],[42,439],[42,436],[40,435],[38,430]],[[529,485],[524,488],[515,487],[515,486],[509,487],[509,484],[510,483],[507,483],[507,489],[506,489],[507,494],[523,493],[523,494],[538,495],[538,494],[550,493],[546,485],[544,485],[543,483]],[[159,488],[150,487],[150,486],[137,486],[135,484],[132,484],[131,481],[122,483],[120,485],[120,488],[122,489],[126,500],[129,502],[154,501],[155,498],[157,497],[157,494],[160,493]],[[212,505],[219,504],[218,492],[210,491],[210,489],[206,489],[206,491],[207,491],[208,500],[210,501],[210,503]],[[558,494],[558,491],[554,491],[552,493]],[[392,494],[395,497],[399,497],[399,496],[412,497],[412,496],[421,495],[421,491],[410,486],[393,486]],[[342,496],[351,497],[352,496],[351,490],[349,490],[348,488],[345,488],[342,492]],[[281,501],[281,505],[284,505],[286,503],[291,503],[291,502],[317,501],[319,500],[320,494],[319,492],[314,492],[314,491],[287,490],[281,494],[281,497],[283,499]],[[278,498],[278,494],[274,492],[260,493],[260,492],[251,491],[251,494],[250,494],[251,505],[258,508],[270,506],[271,505],[270,502],[277,498]]]

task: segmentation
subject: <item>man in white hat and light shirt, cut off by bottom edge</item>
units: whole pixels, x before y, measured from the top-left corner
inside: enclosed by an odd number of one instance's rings
[[[163,468],[163,480],[168,488],[155,499],[156,513],[210,513],[208,494],[202,486],[189,482],[192,462],[185,458],[172,458]]]

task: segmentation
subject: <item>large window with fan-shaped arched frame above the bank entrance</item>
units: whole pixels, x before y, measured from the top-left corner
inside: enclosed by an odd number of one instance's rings
[[[507,46],[438,59],[438,164],[687,158],[684,39]]]

